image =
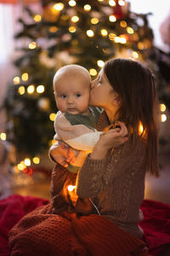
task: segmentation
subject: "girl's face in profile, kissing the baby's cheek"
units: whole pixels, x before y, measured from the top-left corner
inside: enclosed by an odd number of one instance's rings
[[[98,78],[92,82],[89,105],[104,108],[105,111],[113,110],[115,113],[117,97],[118,94],[106,79],[104,70],[101,69]]]

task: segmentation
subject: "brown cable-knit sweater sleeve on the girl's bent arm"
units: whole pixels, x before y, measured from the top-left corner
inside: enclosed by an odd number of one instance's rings
[[[145,147],[141,140],[134,146],[128,141],[116,148],[113,154],[110,152],[104,160],[94,160],[88,155],[77,176],[77,195],[82,198],[98,196],[105,186],[123,172],[139,169],[144,160]]]

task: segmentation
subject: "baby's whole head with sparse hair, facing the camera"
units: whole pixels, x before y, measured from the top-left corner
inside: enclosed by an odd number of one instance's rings
[[[54,75],[54,96],[57,108],[63,113],[87,114],[91,77],[78,65],[66,65]]]

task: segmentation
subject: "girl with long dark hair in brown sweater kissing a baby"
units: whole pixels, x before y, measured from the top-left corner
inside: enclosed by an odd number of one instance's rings
[[[127,126],[127,142],[116,148],[115,132],[102,134],[77,174],[80,203],[75,213],[51,214],[50,205],[31,212],[10,233],[12,256],[17,250],[24,252],[20,255],[33,255],[47,247],[51,255],[60,252],[59,236],[69,235],[71,230],[74,239],[71,236],[71,240],[65,240],[65,248],[69,249],[67,254],[60,255],[74,255],[70,252],[77,241],[81,241],[86,252],[82,253],[79,243],[77,255],[148,255],[143,252],[143,232],[138,223],[145,172],[155,176],[159,173],[155,79],[150,69],[138,61],[108,61],[92,83],[90,105],[104,109],[99,116],[98,131],[121,120]],[[52,154],[60,163],[62,150],[58,148]],[[60,170],[64,167],[60,166]],[[92,203],[88,210],[83,205],[84,198]],[[71,224],[69,229],[61,227],[65,219]],[[43,239],[37,241],[40,225]],[[29,245],[32,253],[26,254]]]

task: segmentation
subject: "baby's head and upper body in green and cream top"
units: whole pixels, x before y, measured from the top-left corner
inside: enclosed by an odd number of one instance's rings
[[[78,172],[102,133],[96,130],[101,111],[88,107],[90,84],[88,70],[78,65],[61,67],[54,75],[54,96],[59,109],[54,121],[54,140],[75,149],[75,161],[67,167],[73,173]]]

